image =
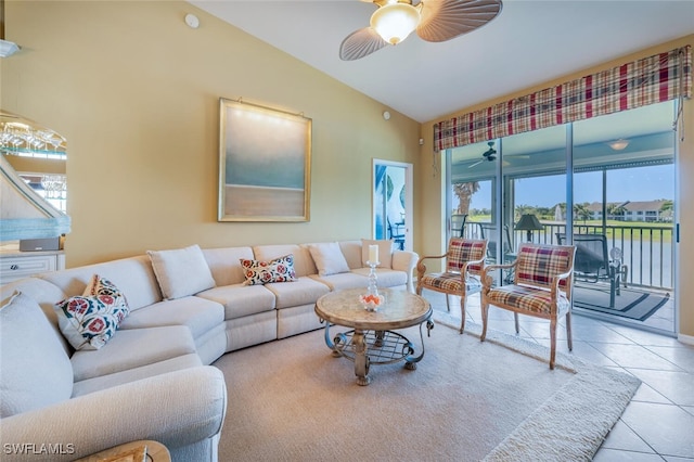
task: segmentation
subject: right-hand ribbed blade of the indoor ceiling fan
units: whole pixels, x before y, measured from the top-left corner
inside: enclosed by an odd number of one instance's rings
[[[416,35],[446,41],[484,26],[501,12],[501,0],[422,0]]]

